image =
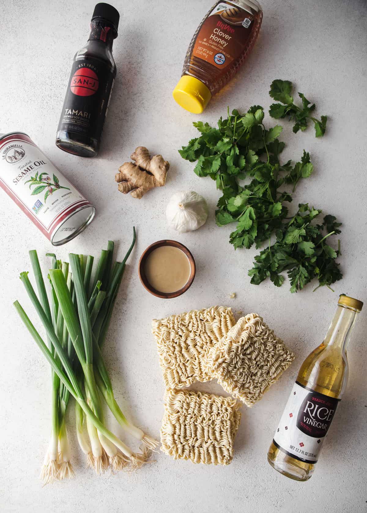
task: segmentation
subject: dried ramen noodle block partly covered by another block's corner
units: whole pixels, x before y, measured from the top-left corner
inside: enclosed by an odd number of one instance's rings
[[[166,387],[185,388],[196,381],[210,381],[204,358],[234,323],[231,309],[223,306],[154,319],[152,332]]]

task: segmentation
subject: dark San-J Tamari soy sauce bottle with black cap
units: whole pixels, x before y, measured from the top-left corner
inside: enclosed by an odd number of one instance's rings
[[[75,54],[56,135],[56,145],[68,153],[98,153],[116,77],[112,45],[119,18],[112,5],[97,4],[88,41]]]

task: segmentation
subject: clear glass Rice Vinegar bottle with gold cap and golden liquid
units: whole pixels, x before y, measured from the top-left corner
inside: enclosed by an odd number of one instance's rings
[[[348,380],[346,348],[363,303],[341,295],[322,344],[303,362],[268,451],[270,465],[307,481]]]

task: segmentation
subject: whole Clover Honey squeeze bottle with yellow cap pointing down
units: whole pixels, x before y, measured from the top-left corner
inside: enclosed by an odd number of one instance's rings
[[[244,63],[258,38],[263,11],[256,0],[217,2],[189,45],[174,100],[195,114],[221,90]]]

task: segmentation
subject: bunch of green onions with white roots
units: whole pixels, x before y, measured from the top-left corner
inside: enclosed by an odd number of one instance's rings
[[[14,307],[52,369],[51,439],[41,471],[44,483],[74,477],[65,426],[70,396],[75,399],[79,445],[87,458],[87,466],[98,474],[110,467],[114,471],[139,468],[158,444],[127,421],[115,399],[101,352],[135,240],[134,227],[133,242],[122,262],[113,262],[114,243],[109,241],[107,249],[101,252],[93,279],[94,257],[70,253],[67,263],[48,253],[52,258],[48,272],[49,295],[35,250],[29,255],[37,293],[28,272],[20,275],[45,329],[47,344],[19,301],[14,302]],[[107,429],[103,400],[119,424],[142,443],[141,452],[134,452]]]

